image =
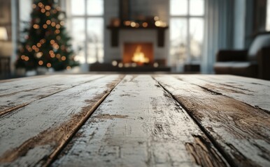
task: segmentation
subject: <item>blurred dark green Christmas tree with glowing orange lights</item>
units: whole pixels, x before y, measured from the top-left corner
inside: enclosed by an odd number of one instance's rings
[[[55,0],[33,0],[32,9],[31,21],[21,33],[16,67],[69,70],[78,65],[64,26],[64,13]]]

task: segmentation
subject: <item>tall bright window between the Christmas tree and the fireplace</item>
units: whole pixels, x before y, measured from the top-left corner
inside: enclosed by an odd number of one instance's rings
[[[103,62],[104,0],[69,0],[72,45],[80,63]]]

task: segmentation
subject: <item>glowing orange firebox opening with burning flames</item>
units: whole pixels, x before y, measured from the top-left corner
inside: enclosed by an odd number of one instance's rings
[[[154,63],[153,52],[153,45],[150,42],[125,42],[122,62],[149,65]]]

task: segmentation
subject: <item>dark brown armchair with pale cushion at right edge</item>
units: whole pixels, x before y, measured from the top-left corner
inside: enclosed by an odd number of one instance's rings
[[[270,33],[256,36],[248,50],[220,50],[215,74],[234,74],[270,80]]]

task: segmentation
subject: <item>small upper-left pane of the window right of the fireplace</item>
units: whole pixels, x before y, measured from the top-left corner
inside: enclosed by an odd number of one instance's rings
[[[187,0],[171,0],[170,1],[171,15],[187,15]]]

